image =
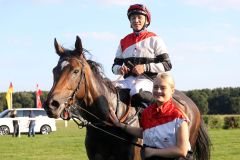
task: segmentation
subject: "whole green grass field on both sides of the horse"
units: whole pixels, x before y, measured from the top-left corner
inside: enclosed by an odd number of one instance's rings
[[[212,160],[240,159],[240,129],[210,130],[213,143]],[[0,136],[1,160],[87,160],[84,148],[85,129],[78,129],[70,121],[64,127],[63,121],[57,121],[57,131],[50,135],[28,138]]]

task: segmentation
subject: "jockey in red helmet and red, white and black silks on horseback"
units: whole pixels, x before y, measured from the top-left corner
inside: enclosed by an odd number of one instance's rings
[[[112,72],[123,75],[116,83],[121,89],[130,91],[131,105],[147,106],[152,100],[153,79],[158,73],[171,70],[172,64],[164,41],[153,32],[147,31],[151,14],[142,4],[131,5],[127,11],[133,32],[119,44]]]

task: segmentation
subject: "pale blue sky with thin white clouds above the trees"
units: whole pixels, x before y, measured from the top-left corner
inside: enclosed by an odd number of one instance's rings
[[[49,91],[58,55],[76,35],[91,58],[111,72],[121,38],[132,32],[127,9],[145,4],[149,31],[166,43],[179,90],[240,87],[239,0],[0,0],[0,92]]]

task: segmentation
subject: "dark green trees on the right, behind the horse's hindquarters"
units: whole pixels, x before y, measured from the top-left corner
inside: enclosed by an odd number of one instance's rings
[[[202,114],[240,114],[240,87],[191,90],[185,93]]]

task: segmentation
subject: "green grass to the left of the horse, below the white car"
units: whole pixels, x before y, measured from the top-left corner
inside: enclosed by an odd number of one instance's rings
[[[49,135],[37,134],[28,138],[0,136],[1,160],[85,160],[85,129],[78,129],[72,121],[65,128],[63,121],[57,121],[57,131]]]

